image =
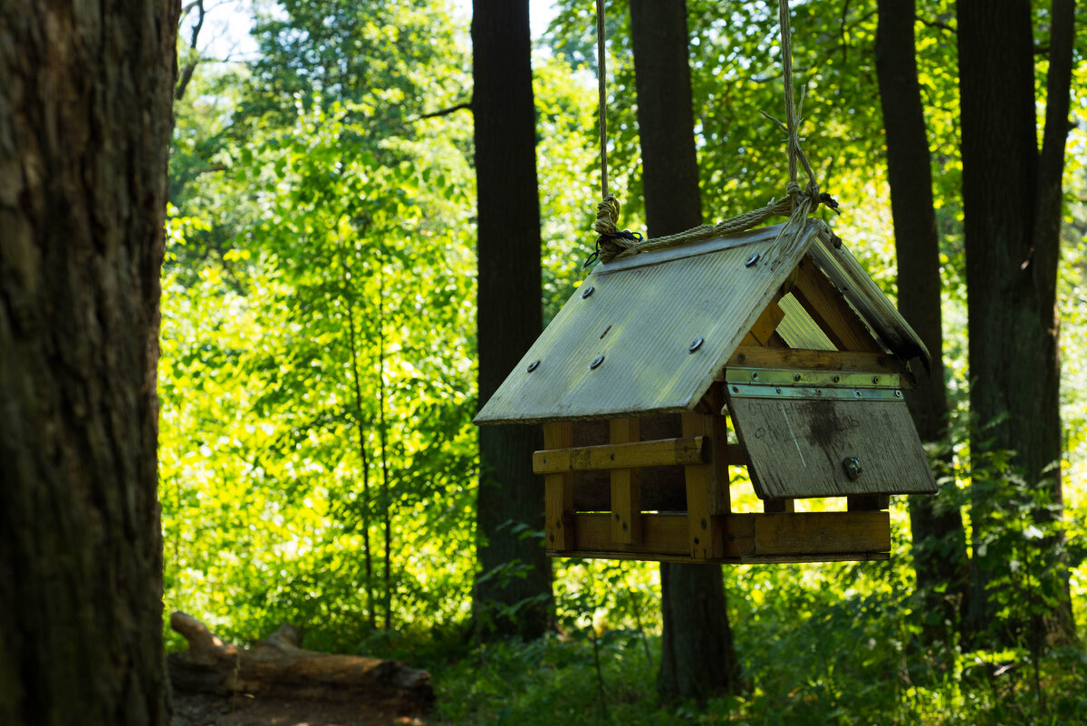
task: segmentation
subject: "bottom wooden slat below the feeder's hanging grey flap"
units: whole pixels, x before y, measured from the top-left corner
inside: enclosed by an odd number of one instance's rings
[[[887,512],[729,514],[723,520],[725,556],[890,550]]]

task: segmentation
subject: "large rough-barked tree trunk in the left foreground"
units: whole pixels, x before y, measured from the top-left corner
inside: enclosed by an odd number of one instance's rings
[[[155,445],[177,0],[0,0],[0,723],[165,724]]]

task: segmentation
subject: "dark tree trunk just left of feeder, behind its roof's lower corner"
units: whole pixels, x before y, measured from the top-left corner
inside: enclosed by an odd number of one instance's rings
[[[479,400],[486,401],[544,322],[528,0],[475,0],[473,10]],[[523,537],[516,526],[544,529],[544,487],[532,467],[533,451],[542,443],[533,426],[479,429],[483,577],[474,614],[488,637],[536,638],[548,626],[551,564],[539,540]],[[527,575],[507,568],[527,568]]]

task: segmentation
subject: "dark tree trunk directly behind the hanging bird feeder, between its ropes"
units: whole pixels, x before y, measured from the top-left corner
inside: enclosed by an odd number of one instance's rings
[[[650,236],[658,237],[702,223],[686,2],[630,0],[630,29],[646,217]],[[662,563],[661,589],[662,696],[701,699],[734,688],[739,662],[721,567]]]

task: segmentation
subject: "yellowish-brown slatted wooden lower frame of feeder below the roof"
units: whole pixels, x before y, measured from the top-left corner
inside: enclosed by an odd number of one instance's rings
[[[549,555],[688,563],[888,559],[888,498],[850,497],[848,511],[807,513],[795,512],[792,500],[765,500],[764,513],[734,513],[728,466],[747,463],[741,448],[728,443],[727,416],[690,412],[682,421],[682,438],[641,441],[638,420],[612,420],[610,443],[576,448],[569,422],[545,424],[548,448],[534,454],[533,466],[545,475]],[[683,466],[686,512],[641,511],[638,470],[645,466]],[[611,511],[576,512],[573,472],[601,470],[611,473]]]

